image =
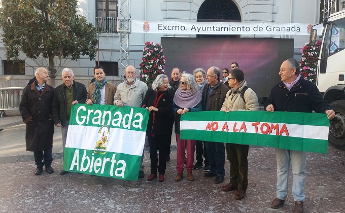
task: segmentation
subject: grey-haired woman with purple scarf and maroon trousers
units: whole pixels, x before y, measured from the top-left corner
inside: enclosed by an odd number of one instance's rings
[[[187,178],[189,181],[194,181],[193,176],[193,163],[195,140],[180,139],[180,120],[181,115],[187,112],[201,111],[201,93],[193,75],[183,72],[180,82],[180,87],[176,90],[174,97],[174,105],[172,110],[175,114],[175,133],[177,143],[177,175],[175,181],[181,181],[183,177],[183,166],[185,151],[187,148]]]

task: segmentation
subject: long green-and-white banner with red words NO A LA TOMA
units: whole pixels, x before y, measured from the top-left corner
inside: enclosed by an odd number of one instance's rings
[[[181,116],[181,139],[327,153],[326,114],[264,111],[193,112]]]

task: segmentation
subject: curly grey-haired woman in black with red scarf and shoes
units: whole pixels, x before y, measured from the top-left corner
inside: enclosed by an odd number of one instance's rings
[[[168,81],[166,75],[158,75],[151,88],[147,90],[143,100],[143,108],[150,112],[146,130],[151,160],[151,174],[147,178],[148,181],[153,181],[157,177],[157,167],[158,181],[164,181],[165,157],[170,149],[172,124],[174,124],[174,114],[172,114],[172,99],[174,97],[167,91]],[[159,151],[159,157],[157,151]]]

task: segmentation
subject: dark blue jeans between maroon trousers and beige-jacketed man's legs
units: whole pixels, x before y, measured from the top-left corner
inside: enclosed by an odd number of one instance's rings
[[[210,172],[217,176],[225,175],[225,147],[224,143],[205,141],[206,152],[210,163]]]

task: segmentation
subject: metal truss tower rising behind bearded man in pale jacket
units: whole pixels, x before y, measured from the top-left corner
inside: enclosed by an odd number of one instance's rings
[[[130,0],[118,1],[117,31],[120,37],[120,77],[123,81],[126,66],[129,64],[129,33],[131,29]]]

